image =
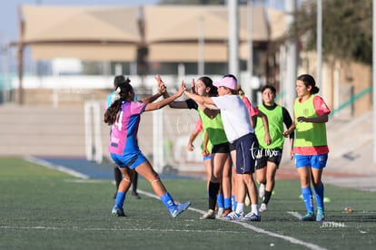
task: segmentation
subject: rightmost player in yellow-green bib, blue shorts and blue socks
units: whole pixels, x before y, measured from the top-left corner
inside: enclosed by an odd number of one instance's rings
[[[302,74],[296,81],[298,98],[293,102],[292,126],[283,132],[287,137],[296,130],[293,145],[295,166],[301,178],[302,197],[307,214],[302,221],[324,220],[324,186],[322,170],[328,160],[328,145],[325,123],[331,110],[322,97],[316,95],[319,88],[312,75]],[[317,216],[313,212],[311,180],[317,201]]]

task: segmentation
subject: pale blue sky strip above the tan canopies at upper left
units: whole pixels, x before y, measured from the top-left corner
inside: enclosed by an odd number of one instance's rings
[[[1,0],[0,43],[13,42],[18,36],[19,5],[155,5],[158,0]]]

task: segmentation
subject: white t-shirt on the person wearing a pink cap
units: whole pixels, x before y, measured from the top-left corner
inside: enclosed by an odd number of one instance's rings
[[[254,132],[247,107],[238,95],[217,96],[212,100],[221,110],[224,132],[230,142]]]

